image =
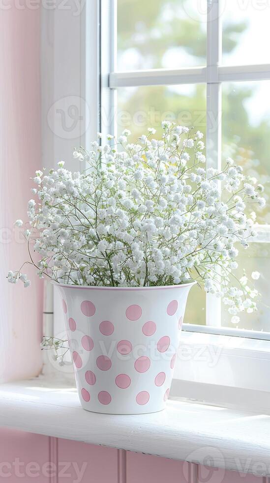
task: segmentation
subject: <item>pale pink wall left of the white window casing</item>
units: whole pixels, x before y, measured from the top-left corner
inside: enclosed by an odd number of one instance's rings
[[[0,9],[0,381],[5,381],[34,376],[41,367],[42,283],[29,269],[30,288],[5,279],[27,257],[13,223],[27,219],[29,178],[41,162],[40,11],[22,0],[2,3],[10,7]]]

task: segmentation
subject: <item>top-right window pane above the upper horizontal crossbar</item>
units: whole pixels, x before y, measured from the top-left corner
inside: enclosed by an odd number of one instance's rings
[[[268,0],[223,1],[223,64],[270,63]]]

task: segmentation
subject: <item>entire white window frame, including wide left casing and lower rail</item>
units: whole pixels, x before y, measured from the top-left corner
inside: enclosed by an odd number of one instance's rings
[[[104,135],[116,132],[118,87],[206,83],[208,109],[215,109],[218,118],[221,113],[221,82],[270,79],[270,65],[219,66],[221,41],[217,14],[218,0],[211,1],[212,9],[209,11],[206,67],[117,72],[116,1],[86,2],[80,17],[75,19],[68,11],[63,13],[42,10],[43,166],[51,167],[52,160],[55,160],[55,163],[59,159],[69,160],[72,147],[80,144],[88,147],[97,131],[102,131]],[[52,38],[48,38],[48,35]],[[67,45],[74,47],[68,50],[68,55]],[[70,66],[68,82],[65,69],[61,69],[61,63],[64,63],[63,67],[66,65],[67,56]],[[66,140],[52,135],[46,119],[51,105],[62,96],[71,93],[85,100],[86,105],[90,107],[91,117],[80,139]],[[87,123],[86,117],[84,119]],[[214,146],[220,143],[220,127],[219,124],[215,133],[210,133],[208,129],[208,138],[211,137]],[[220,157],[214,154],[214,150],[208,152],[207,157],[212,166],[220,166]],[[67,168],[73,169],[72,160],[67,161],[66,165]],[[257,231],[257,242],[270,242],[270,226],[260,225]],[[216,388],[221,394],[221,400],[224,399],[224,388],[230,386],[231,389],[240,391],[255,391],[258,401],[259,395],[270,392],[270,341],[260,340],[268,339],[270,334],[220,327],[220,318],[216,317],[216,314],[220,313],[220,307],[218,302],[210,297],[207,300],[207,311],[206,326],[184,324],[179,348],[180,363],[176,368],[171,395],[212,402],[209,398],[211,399],[213,391],[208,389],[209,386]],[[213,325],[211,322],[214,317],[216,323]],[[44,327],[44,333],[47,335],[48,330],[55,337],[64,331],[57,293],[54,301],[53,328]],[[212,354],[216,352],[219,358],[213,364]],[[47,371],[50,372],[51,369],[48,364]],[[223,389],[219,391],[219,388]],[[242,396],[242,399],[244,397]],[[216,395],[214,399],[215,402],[219,401]],[[262,407],[265,404],[263,399],[262,397]]]

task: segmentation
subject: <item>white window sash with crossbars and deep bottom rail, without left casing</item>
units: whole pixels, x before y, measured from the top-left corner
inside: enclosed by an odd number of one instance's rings
[[[208,0],[207,62],[205,67],[189,69],[151,69],[117,71],[117,0],[100,0],[101,6],[101,131],[116,134],[117,89],[157,85],[207,85],[207,113],[218,120],[213,130],[207,114],[207,164],[221,167],[221,83],[270,80],[270,64],[221,66],[222,31],[220,0]],[[108,122],[109,119],[109,122]],[[210,141],[210,142],[209,142]],[[210,146],[210,147],[209,147]],[[251,242],[270,242],[270,225],[258,225],[256,239]],[[215,403],[231,398],[232,405],[239,399],[237,391],[253,391],[257,407],[264,407],[266,392],[270,392],[267,374],[270,372],[270,332],[256,332],[221,327],[221,303],[207,295],[206,326],[183,324],[179,348],[179,362],[172,396],[186,396],[213,402],[213,391],[218,387]],[[237,337],[235,337],[237,336]],[[215,364],[211,354],[218,353]],[[190,386],[191,384],[191,386]],[[192,390],[190,389],[192,387]],[[202,389],[204,388],[204,389]],[[252,394],[253,394],[252,392]],[[208,395],[208,396],[207,396]],[[242,393],[242,400],[246,399]],[[261,402],[260,402],[261,401]],[[228,401],[227,401],[228,403]],[[229,403],[228,403],[229,404]]]

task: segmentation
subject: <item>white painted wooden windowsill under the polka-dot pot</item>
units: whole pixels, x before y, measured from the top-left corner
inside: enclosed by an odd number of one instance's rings
[[[269,474],[270,416],[187,400],[155,414],[95,414],[74,386],[40,377],[0,386],[0,426],[202,464],[208,455],[211,466]]]

